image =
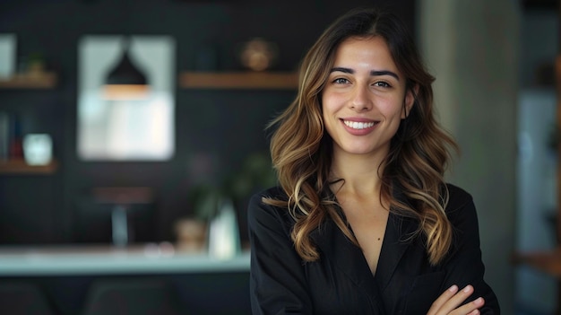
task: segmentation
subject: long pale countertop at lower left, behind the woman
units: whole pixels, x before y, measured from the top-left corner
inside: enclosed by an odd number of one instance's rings
[[[212,258],[169,243],[112,246],[2,247],[0,276],[71,276],[249,271],[249,253]]]

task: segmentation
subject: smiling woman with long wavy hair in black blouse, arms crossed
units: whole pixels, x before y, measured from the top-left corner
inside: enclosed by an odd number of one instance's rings
[[[255,314],[500,313],[433,81],[391,13],[351,11],[308,51],[270,126],[280,186],[248,207]]]

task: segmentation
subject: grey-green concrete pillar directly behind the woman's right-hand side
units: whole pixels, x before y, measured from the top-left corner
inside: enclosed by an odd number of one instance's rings
[[[486,279],[514,314],[516,108],[521,9],[512,0],[419,0],[436,109],[462,154],[447,179],[476,204]]]

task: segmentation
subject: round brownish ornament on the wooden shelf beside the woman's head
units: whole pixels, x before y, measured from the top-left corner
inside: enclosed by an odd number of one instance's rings
[[[239,52],[242,65],[254,71],[269,69],[278,55],[279,48],[277,45],[262,38],[247,41],[242,45]]]

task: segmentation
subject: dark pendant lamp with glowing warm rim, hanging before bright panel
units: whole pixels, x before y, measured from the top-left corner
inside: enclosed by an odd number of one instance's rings
[[[108,100],[137,100],[145,98],[149,91],[146,76],[129,57],[130,42],[125,39],[123,56],[108,76],[104,86],[104,96]]]

